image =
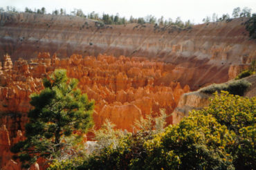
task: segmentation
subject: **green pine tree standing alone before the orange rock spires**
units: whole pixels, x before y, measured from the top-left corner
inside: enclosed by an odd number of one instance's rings
[[[68,79],[66,70],[55,70],[44,79],[44,90],[30,96],[33,110],[28,112],[26,140],[11,148],[13,153],[18,153],[17,158],[24,167],[39,157],[60,158],[74,144],[73,140],[72,144],[68,142],[68,137],[75,136],[78,141],[93,125],[94,102],[81,94],[77,82],[77,79]],[[77,135],[74,131],[82,133]]]

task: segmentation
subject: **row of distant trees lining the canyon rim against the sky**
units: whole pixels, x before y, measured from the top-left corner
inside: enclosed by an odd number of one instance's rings
[[[238,17],[253,17],[255,14],[251,14],[252,9],[248,8],[248,7],[244,7],[243,9],[241,9],[240,7],[235,8],[232,11],[232,17],[230,17],[230,15],[228,13],[223,14],[221,17],[218,17],[218,15],[216,13],[212,14],[212,17],[205,17],[203,18],[203,22],[204,23],[208,23],[208,22],[215,22],[215,21],[231,21],[232,18],[238,18]],[[0,12],[19,12],[18,10],[16,10],[15,7],[12,6],[7,6],[6,9],[4,8],[0,8]],[[37,13],[37,14],[42,14],[42,15],[46,15],[46,8],[42,7],[41,9],[30,9],[30,8],[25,8],[24,12],[28,12],[28,13]],[[48,13],[50,14],[50,13]],[[181,21],[181,17],[177,17],[175,19],[175,21],[173,21],[171,18],[169,19],[164,19],[164,17],[160,17],[159,19],[157,19],[156,17],[154,17],[153,15],[147,15],[146,17],[138,17],[138,18],[134,18],[134,17],[130,17],[129,19],[127,19],[126,17],[120,17],[119,14],[117,13],[116,15],[109,15],[109,14],[102,14],[99,15],[96,12],[90,12],[87,15],[84,14],[84,12],[81,9],[74,9],[73,11],[71,11],[70,14],[66,14],[66,10],[63,8],[60,8],[60,10],[53,10],[52,15],[73,15],[73,16],[77,16],[77,17],[85,17],[88,19],[94,19],[97,21],[102,21],[104,24],[107,25],[124,25],[127,23],[139,23],[139,24],[144,24],[144,23],[152,23],[152,24],[158,24],[160,26],[179,26],[181,28],[188,28],[194,25],[194,23],[192,23],[190,20],[188,21]]]

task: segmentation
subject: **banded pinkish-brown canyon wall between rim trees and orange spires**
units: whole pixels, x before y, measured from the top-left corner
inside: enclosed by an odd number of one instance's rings
[[[39,52],[69,57],[73,53],[116,57],[147,57],[172,64],[166,75],[192,90],[226,82],[241,64],[256,56],[256,44],[245,30],[246,18],[205,23],[192,28],[127,24],[98,26],[74,16],[0,14],[0,57],[31,59]],[[0,58],[1,59],[1,58]],[[230,68],[230,66],[233,66]]]

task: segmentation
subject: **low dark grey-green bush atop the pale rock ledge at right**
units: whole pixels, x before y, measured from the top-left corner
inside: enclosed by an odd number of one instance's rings
[[[212,84],[210,86],[206,86],[201,88],[201,92],[212,94],[215,91],[228,91],[233,95],[244,95],[244,92],[250,85],[250,82],[246,80],[235,80],[224,84]]]

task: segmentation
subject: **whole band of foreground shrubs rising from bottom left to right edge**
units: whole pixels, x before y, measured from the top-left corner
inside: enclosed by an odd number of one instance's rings
[[[77,169],[254,169],[256,97],[214,93],[165,131],[138,131],[91,155]]]

